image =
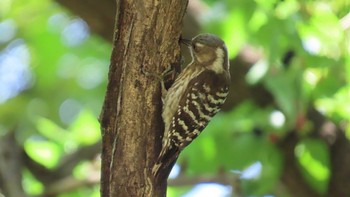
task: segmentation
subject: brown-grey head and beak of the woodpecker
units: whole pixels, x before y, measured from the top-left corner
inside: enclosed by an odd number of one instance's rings
[[[182,39],[189,46],[193,63],[199,63],[216,73],[229,69],[227,48],[219,37],[213,34],[199,34],[192,40]]]

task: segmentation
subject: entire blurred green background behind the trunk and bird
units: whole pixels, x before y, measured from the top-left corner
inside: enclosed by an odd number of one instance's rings
[[[114,8],[0,1],[0,196],[99,196]],[[232,87],[179,158],[169,197],[350,196],[349,10],[349,0],[190,0],[183,36],[225,40]]]

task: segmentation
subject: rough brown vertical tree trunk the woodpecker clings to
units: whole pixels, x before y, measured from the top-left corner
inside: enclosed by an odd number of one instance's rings
[[[109,81],[101,113],[102,196],[165,196],[151,169],[161,147],[159,81],[179,56],[187,0],[117,0]]]

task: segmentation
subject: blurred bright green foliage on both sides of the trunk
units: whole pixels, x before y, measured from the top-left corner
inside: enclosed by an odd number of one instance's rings
[[[279,143],[297,129],[300,171],[310,187],[325,194],[331,153],[322,140],[307,136],[315,125],[305,114],[316,107],[345,125],[349,138],[350,31],[342,19],[350,5],[346,0],[205,2],[210,8],[201,16],[204,31],[220,35],[231,58],[245,45],[263,54],[246,80],[263,85],[274,104],[261,108],[246,100],[217,115],[181,154],[179,176],[225,173],[239,179],[232,182],[233,192],[287,195],[276,186],[285,166]],[[27,154],[54,169],[66,154],[100,140],[97,117],[111,45],[51,1],[1,1],[0,18],[0,135],[15,130]],[[255,164],[261,168],[248,176]],[[78,165],[73,176],[84,179],[85,171],[86,165]],[[28,194],[40,194],[43,184],[24,170]],[[82,187],[60,196],[98,196],[98,190]],[[168,195],[190,190],[172,186]]]

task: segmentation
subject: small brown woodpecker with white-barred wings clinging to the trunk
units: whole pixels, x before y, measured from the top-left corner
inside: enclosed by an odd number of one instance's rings
[[[154,176],[175,164],[180,152],[221,109],[229,91],[230,64],[225,43],[213,34],[200,34],[182,42],[189,47],[192,62],[163,93],[165,132],[152,169]]]

